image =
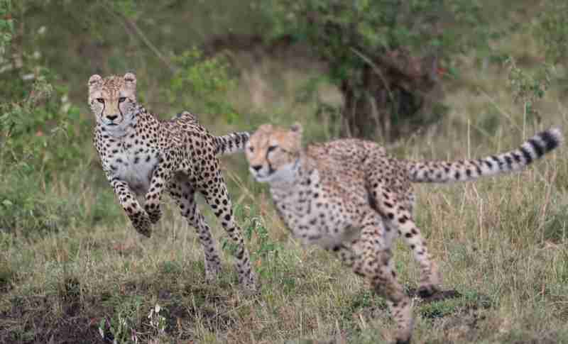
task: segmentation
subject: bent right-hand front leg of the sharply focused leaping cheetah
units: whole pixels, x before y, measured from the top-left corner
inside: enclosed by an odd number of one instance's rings
[[[150,187],[148,192],[146,192],[146,201],[144,202],[144,210],[148,213],[151,223],[157,223],[162,217],[160,201],[164,189],[168,187],[173,176],[173,160],[173,157],[165,155],[152,174]]]

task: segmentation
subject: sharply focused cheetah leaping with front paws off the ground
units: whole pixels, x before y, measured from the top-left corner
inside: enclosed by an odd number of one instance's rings
[[[136,101],[136,76],[89,78],[89,106],[94,113],[94,147],[116,198],[133,227],[146,237],[161,216],[167,191],[181,215],[196,228],[205,256],[205,277],[219,273],[221,261],[212,234],[197,208],[200,192],[236,245],[239,283],[256,289],[249,251],[234,221],[231,199],[217,157],[244,149],[249,133],[214,136],[185,111],[162,121]],[[140,201],[138,201],[140,198]],[[143,203],[143,207],[141,206]]]

